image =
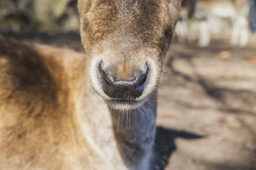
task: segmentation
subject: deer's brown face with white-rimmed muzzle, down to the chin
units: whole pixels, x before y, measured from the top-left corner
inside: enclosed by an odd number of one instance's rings
[[[131,110],[157,90],[179,0],[79,0],[81,39],[93,89]]]

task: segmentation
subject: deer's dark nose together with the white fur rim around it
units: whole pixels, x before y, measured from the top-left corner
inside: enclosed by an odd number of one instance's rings
[[[115,74],[102,66],[102,60],[92,61],[91,81],[93,89],[106,103],[116,110],[139,108],[157,87],[157,69],[152,60],[145,62],[143,69],[130,80],[117,80]]]

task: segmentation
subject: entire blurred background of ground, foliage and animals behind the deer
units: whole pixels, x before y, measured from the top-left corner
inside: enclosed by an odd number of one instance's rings
[[[83,52],[76,0],[0,0],[0,34]],[[159,89],[155,169],[256,169],[256,0],[184,0]]]

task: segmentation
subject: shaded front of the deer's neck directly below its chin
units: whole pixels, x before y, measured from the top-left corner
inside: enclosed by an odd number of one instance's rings
[[[111,110],[113,132],[127,166],[148,169],[156,134],[157,92],[136,110]]]

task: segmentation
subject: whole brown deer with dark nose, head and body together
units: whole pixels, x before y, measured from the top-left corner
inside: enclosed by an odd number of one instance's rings
[[[0,169],[153,169],[178,0],[78,0],[85,53],[0,36]]]

